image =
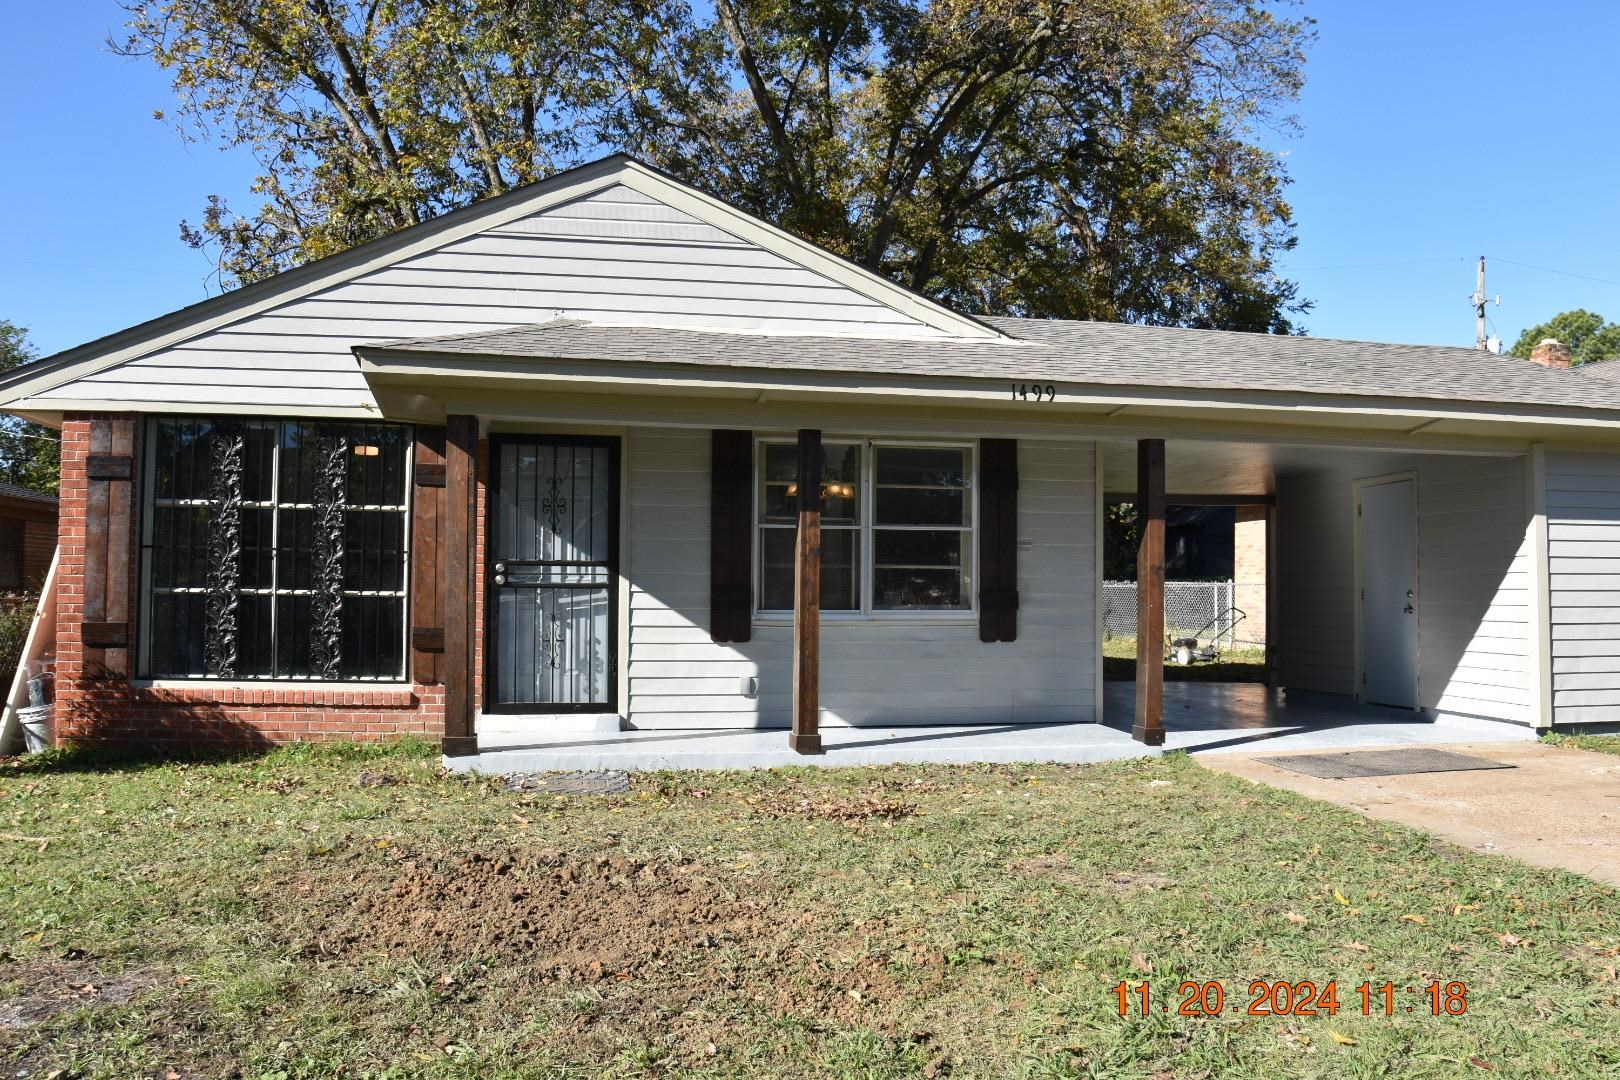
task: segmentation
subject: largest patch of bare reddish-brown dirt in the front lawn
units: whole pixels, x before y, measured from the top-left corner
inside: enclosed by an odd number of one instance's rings
[[[768,881],[698,863],[497,850],[334,870],[267,887],[264,918],[296,952],[439,963],[447,1004],[548,1009],[556,1027],[541,1038],[570,1056],[640,1038],[700,1061],[729,1041],[739,1007],[820,1023],[899,994],[886,954],[868,947],[891,928],[839,926]],[[538,986],[562,993],[531,996]]]

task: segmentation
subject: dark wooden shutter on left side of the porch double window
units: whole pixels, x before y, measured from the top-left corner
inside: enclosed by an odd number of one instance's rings
[[[710,460],[710,636],[753,625],[753,432],[714,431]]]

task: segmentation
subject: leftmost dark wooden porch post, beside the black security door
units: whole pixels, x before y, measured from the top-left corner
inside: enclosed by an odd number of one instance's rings
[[[473,544],[478,538],[478,418],[447,416],[444,431],[444,753],[478,753],[473,725]]]

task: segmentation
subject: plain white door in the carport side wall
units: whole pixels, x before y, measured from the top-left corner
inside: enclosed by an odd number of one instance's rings
[[[1361,696],[1418,708],[1418,507],[1411,479],[1361,484]]]

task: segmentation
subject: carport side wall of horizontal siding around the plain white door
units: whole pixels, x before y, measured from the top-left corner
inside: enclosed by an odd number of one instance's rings
[[[1406,471],[1418,473],[1419,704],[1529,722],[1534,678],[1523,458],[1388,457],[1278,478],[1280,581],[1272,636],[1283,683],[1354,693],[1351,484]]]

